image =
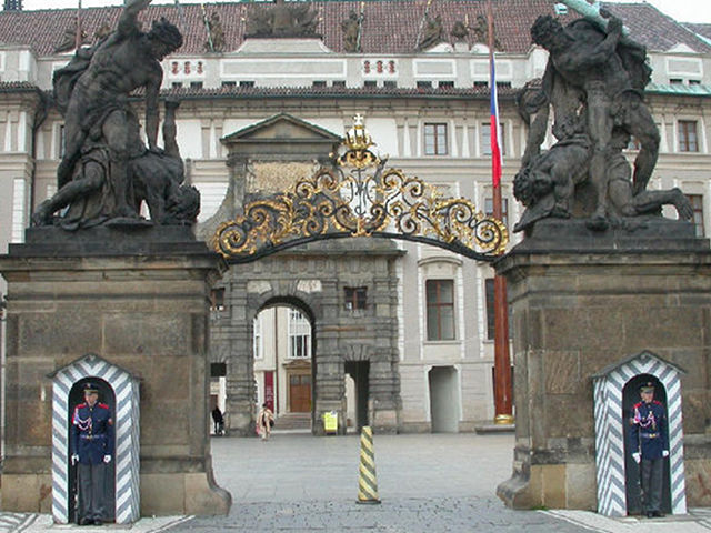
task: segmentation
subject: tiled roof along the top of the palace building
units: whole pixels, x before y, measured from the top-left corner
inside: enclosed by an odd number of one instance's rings
[[[348,0],[311,1],[319,12],[317,33],[334,52],[344,52],[341,22],[360,2]],[[412,53],[415,51],[421,21],[428,2],[423,0],[369,0],[363,2],[364,19],[361,46],[363,53]],[[493,2],[495,32],[501,51],[523,53],[531,47],[529,30],[539,14],[554,14],[553,0],[497,0]],[[207,3],[206,12],[217,11],[224,32],[223,51],[237,50],[244,41],[247,21],[254,10],[263,9],[258,3]],[[667,17],[648,3],[607,3],[605,7],[622,18],[632,36],[649,50],[667,51],[683,43],[701,53],[710,53],[711,46],[694,31]],[[108,24],[116,28],[122,7],[89,8],[82,10],[82,29],[89,42],[96,32]],[[208,40],[203,12],[200,4],[190,3],[181,8],[187,29],[181,54],[203,54]],[[437,0],[431,2],[429,16],[441,16],[444,34],[449,38],[457,21],[469,21],[472,26],[478,16],[485,14],[485,2],[473,0]],[[76,24],[76,9],[2,11],[0,12],[0,42],[26,44],[39,56],[51,56],[64,40],[67,30]],[[174,6],[150,6],[141,14],[142,21],[166,17],[182,26]],[[561,17],[563,21],[575,18],[574,12]],[[701,24],[708,26],[708,24]]]

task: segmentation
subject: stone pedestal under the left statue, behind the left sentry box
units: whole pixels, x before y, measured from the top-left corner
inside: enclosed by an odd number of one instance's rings
[[[39,228],[27,240],[0,257],[3,511],[50,511],[58,430],[49,374],[93,353],[140,380],[141,514],[226,514],[231,496],[212,475],[207,358],[208,299],[222,260],[179,227]]]

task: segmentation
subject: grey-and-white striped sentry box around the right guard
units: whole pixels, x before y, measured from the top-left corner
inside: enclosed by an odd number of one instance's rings
[[[671,474],[671,510],[687,513],[684,450],[679,366],[651,352],[642,352],[593,375],[595,415],[595,462],[598,512],[607,516],[627,515],[624,476],[624,428],[622,391],[634,376],[655,376],[667,390],[669,416],[669,470]]]

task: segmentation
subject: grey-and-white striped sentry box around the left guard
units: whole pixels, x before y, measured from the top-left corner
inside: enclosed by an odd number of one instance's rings
[[[69,522],[69,393],[78,381],[99,378],[116,394],[116,522],[140,516],[139,383],[126,370],[89,354],[52,375],[52,516]]]

